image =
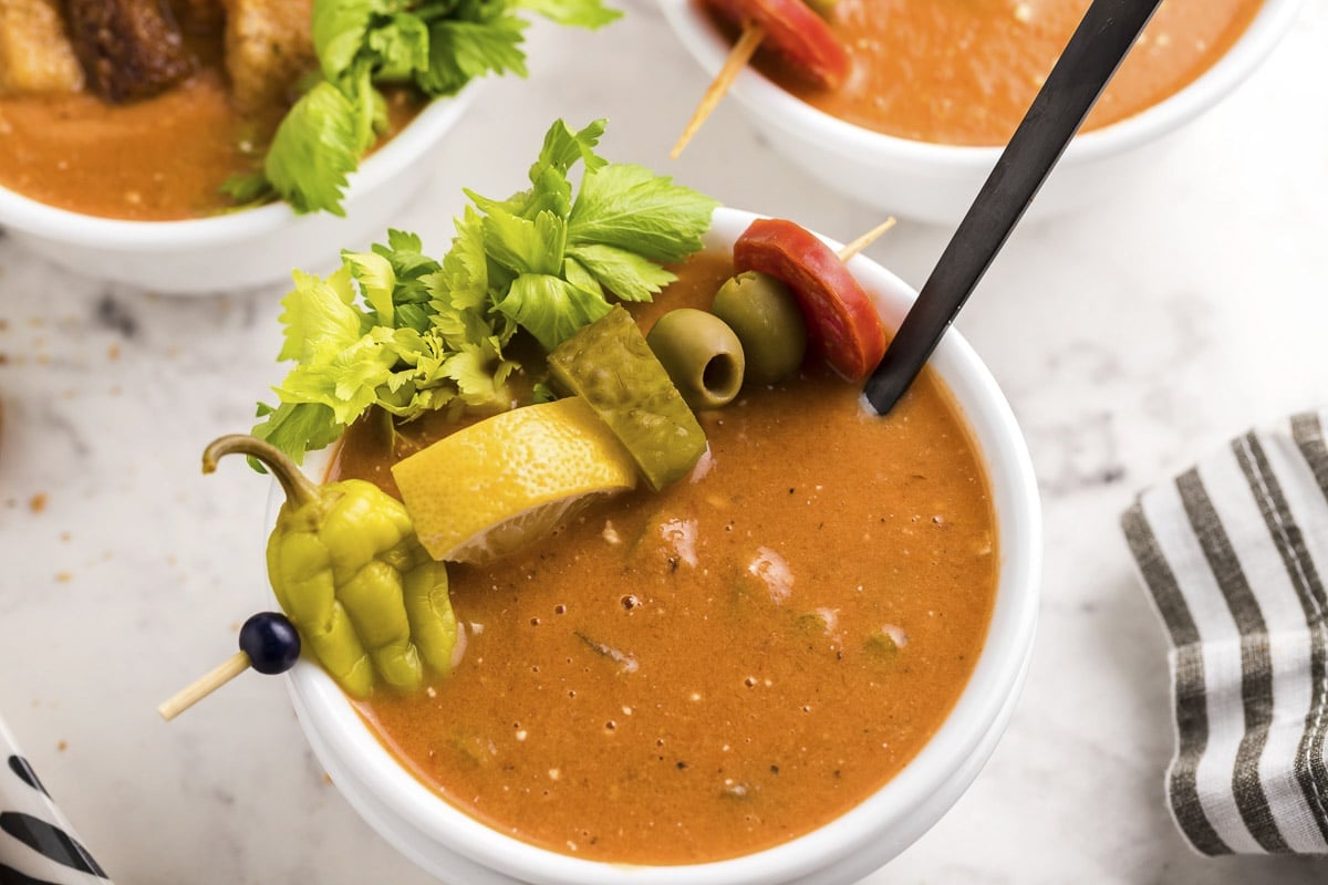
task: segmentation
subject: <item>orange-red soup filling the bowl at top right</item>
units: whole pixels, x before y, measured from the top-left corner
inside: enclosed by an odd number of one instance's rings
[[[837,0],[831,28],[853,58],[841,89],[809,86],[777,58],[761,69],[850,123],[946,145],[1009,141],[1089,0]],[[1175,94],[1244,33],[1260,0],[1165,0],[1085,129]]]

